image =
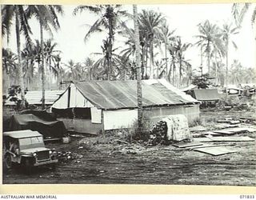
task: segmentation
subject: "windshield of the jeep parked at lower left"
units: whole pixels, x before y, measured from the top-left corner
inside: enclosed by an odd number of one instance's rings
[[[33,138],[20,138],[18,140],[20,150],[26,150],[36,147],[45,147],[43,142],[43,138],[41,136],[33,137]]]

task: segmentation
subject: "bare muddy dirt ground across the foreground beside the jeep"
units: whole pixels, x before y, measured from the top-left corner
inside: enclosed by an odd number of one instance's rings
[[[254,112],[201,113],[202,125],[207,129],[213,127],[218,118],[243,116],[254,117]],[[239,135],[256,138],[256,132]],[[214,142],[229,145],[238,152],[212,156],[171,145],[126,144],[118,142],[118,137],[77,138],[70,144],[48,144],[57,151],[70,151],[73,156],[59,162],[56,170],[41,167],[30,175],[18,168],[7,170],[3,183],[256,185],[255,142]]]

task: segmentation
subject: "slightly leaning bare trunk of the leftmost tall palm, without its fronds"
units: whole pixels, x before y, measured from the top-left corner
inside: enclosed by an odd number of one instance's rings
[[[20,38],[20,27],[18,18],[18,6],[15,6],[15,31],[16,31],[16,42],[17,42],[17,52],[18,52],[18,79],[21,86],[21,109],[25,108],[25,94],[24,94],[24,80],[23,80],[23,69],[22,69],[22,55],[21,55],[21,38]]]

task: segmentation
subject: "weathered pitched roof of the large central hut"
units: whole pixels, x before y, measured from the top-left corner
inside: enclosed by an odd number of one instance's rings
[[[95,106],[110,110],[137,107],[137,81],[75,82],[82,95]],[[142,81],[143,106],[182,105],[198,102],[164,79]]]

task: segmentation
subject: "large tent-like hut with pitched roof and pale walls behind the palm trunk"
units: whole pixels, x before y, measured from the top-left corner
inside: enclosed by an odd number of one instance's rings
[[[130,127],[137,119],[135,80],[74,82],[54,102],[52,112],[68,129],[91,133]],[[157,122],[170,114],[199,117],[198,101],[164,79],[142,81],[144,114]]]

